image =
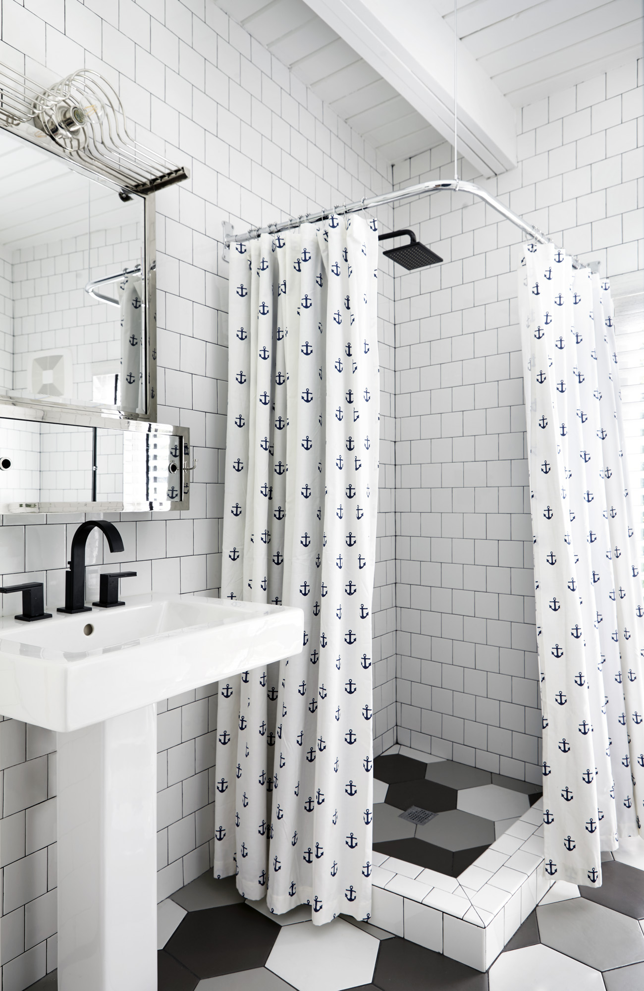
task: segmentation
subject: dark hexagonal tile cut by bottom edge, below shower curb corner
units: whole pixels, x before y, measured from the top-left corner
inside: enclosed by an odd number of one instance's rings
[[[380,943],[378,991],[487,991],[487,974],[396,936]],[[369,985],[368,985],[369,986]]]

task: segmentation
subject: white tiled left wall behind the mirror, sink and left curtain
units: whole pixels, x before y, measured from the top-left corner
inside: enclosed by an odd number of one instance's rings
[[[137,138],[190,169],[187,182],[158,194],[157,235],[159,419],[190,427],[198,459],[192,508],[179,518],[111,517],[125,550],[112,555],[102,537],[90,538],[87,594],[97,598],[100,571],[119,563],[138,572],[122,583],[126,599],[150,591],[216,595],[227,404],[221,221],[245,230],[375,195],[390,189],[390,172],[211,0],[3,0],[2,15],[0,60],[44,83],[79,66],[97,69],[120,92]],[[379,217],[390,228],[390,208]],[[8,272],[5,264],[0,276]],[[376,753],[395,740],[393,278],[386,261],[381,275]],[[0,280],[2,333],[4,286]],[[3,517],[2,579],[17,582],[29,572],[46,583],[48,605],[60,605],[69,543],[83,518]],[[19,599],[5,596],[4,612],[18,612]],[[158,712],[163,899],[211,863],[216,686],[160,702]],[[2,987],[22,991],[56,965],[55,735],[0,722],[0,761]]]

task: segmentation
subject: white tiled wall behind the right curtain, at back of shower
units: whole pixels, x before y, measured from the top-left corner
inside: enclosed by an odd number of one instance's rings
[[[464,179],[602,275],[644,269],[642,60],[517,111],[516,168]],[[396,187],[454,174],[441,145]],[[395,275],[397,739],[541,778],[532,530],[516,312],[520,231],[440,192],[394,208],[443,259]]]

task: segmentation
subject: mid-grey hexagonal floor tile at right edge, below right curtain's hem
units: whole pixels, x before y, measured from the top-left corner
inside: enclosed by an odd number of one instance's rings
[[[596,970],[644,960],[644,934],[635,920],[586,898],[539,905],[537,921],[543,943]]]

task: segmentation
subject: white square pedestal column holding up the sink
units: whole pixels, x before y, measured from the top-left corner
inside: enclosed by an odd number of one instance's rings
[[[157,991],[154,706],[58,733],[58,989]]]

